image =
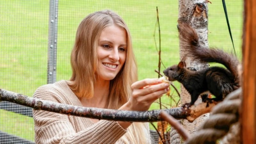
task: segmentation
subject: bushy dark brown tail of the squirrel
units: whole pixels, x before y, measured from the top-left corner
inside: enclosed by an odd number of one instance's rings
[[[200,62],[217,62],[223,64],[235,78],[238,78],[237,66],[239,61],[233,54],[228,54],[223,50],[204,47],[199,43],[196,31],[187,23],[178,25],[180,44],[182,44],[187,56],[191,56]]]

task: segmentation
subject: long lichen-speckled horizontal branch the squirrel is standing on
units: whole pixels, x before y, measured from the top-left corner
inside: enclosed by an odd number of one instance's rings
[[[156,122],[163,121],[159,116],[161,111],[167,112],[175,119],[186,119],[193,121],[200,114],[208,112],[206,104],[200,106],[201,110],[197,106],[191,106],[189,109],[183,107],[177,107],[172,109],[163,110],[151,110],[151,111],[123,111],[114,109],[102,109],[75,106],[69,104],[60,104],[56,102],[50,102],[39,98],[28,97],[22,94],[18,94],[12,91],[0,89],[0,101],[9,101],[16,104],[21,104],[33,108],[34,110],[44,110],[49,112],[56,112],[92,119],[106,119],[114,121],[130,121],[130,122]],[[201,104],[199,104],[201,105]],[[211,105],[211,104],[210,104]],[[212,106],[209,106],[212,107]],[[205,111],[207,110],[207,111]],[[202,112],[204,111],[204,112]],[[191,119],[191,118],[193,119]]]

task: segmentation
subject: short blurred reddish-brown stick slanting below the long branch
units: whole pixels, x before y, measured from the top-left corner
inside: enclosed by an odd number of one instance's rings
[[[177,132],[183,137],[184,140],[188,139],[189,137],[188,132],[171,115],[162,111],[160,112],[160,117],[163,118],[165,121],[167,121],[172,127],[174,127],[177,130]]]

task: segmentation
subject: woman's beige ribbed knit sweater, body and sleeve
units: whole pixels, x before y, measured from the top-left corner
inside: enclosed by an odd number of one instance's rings
[[[39,87],[33,97],[82,106],[64,80]],[[88,118],[42,110],[33,110],[33,118],[37,144],[121,144],[119,139],[126,133],[116,121],[100,120],[93,124]]]

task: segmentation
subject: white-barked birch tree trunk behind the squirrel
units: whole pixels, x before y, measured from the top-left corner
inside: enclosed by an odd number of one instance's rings
[[[179,18],[178,23],[188,23],[197,32],[200,44],[208,47],[208,5],[207,0],[179,0]],[[186,54],[186,47],[180,43],[180,59]],[[193,68],[194,70],[200,70],[208,67],[207,63],[199,63],[197,61],[191,61],[190,58],[186,59],[186,66]],[[189,103],[191,97],[188,91],[181,85],[181,104]],[[195,104],[202,102],[201,97],[198,98]],[[193,123],[188,120],[181,120],[183,127],[189,132],[189,135],[193,135],[197,127],[209,117],[209,113],[197,118]],[[171,138],[172,140],[172,138]],[[171,143],[173,143],[171,141]]]

